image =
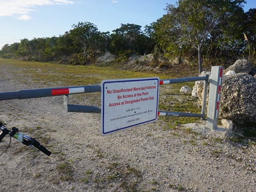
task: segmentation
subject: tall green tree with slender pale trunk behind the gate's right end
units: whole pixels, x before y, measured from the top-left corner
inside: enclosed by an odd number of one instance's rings
[[[167,5],[167,14],[159,21],[158,39],[166,51],[197,50],[198,73],[202,72],[202,49],[211,34],[225,31],[224,23],[231,22],[233,14],[242,10],[244,0],[179,0],[177,6]],[[223,34],[223,33],[222,33]]]

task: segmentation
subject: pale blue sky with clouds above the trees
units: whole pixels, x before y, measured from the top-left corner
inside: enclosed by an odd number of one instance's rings
[[[166,4],[177,0],[0,0],[0,49],[20,39],[59,37],[78,22],[91,22],[100,31],[121,23],[142,27],[161,18]],[[247,0],[244,10],[256,8]]]

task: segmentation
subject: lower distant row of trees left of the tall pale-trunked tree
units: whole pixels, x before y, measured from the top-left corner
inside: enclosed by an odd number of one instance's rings
[[[116,55],[127,52],[151,53],[155,44],[153,39],[141,30],[141,26],[135,24],[121,24],[121,27],[113,30],[111,34],[109,31],[99,31],[91,22],[78,22],[72,27],[73,29],[59,37],[31,40],[25,38],[21,39],[20,43],[5,44],[0,55],[2,58],[52,61],[75,54],[79,62],[87,62],[106,51]]]

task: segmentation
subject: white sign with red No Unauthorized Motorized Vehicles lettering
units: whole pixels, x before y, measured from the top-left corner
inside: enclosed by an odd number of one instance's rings
[[[156,121],[158,89],[158,77],[102,81],[102,134]]]

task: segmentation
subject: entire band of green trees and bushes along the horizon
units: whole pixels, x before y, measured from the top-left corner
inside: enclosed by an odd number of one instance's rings
[[[121,24],[110,33],[91,22],[79,22],[59,37],[21,39],[5,44],[2,58],[27,61],[62,61],[73,65],[91,63],[110,51],[117,61],[130,53],[198,61],[206,65],[230,65],[238,58],[256,57],[256,9],[244,12],[244,0],[179,0],[167,5],[166,14],[141,29]],[[194,62],[195,63],[195,62]],[[195,64],[196,65],[196,64]]]

